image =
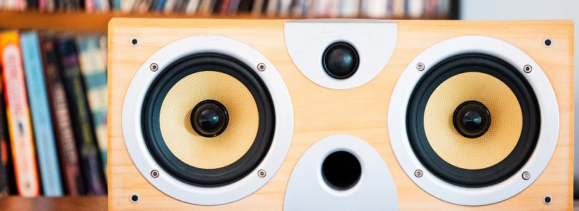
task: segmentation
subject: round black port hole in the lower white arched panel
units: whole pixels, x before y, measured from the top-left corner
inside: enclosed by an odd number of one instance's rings
[[[323,160],[322,177],[331,188],[350,189],[357,184],[361,174],[360,162],[352,153],[337,151]]]

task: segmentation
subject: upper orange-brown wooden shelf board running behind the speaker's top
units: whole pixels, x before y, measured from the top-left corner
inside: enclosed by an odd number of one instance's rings
[[[12,12],[0,11],[0,29],[20,30],[56,30],[67,32],[97,32],[106,33],[107,25],[111,18],[304,18],[304,17],[270,17],[263,15],[186,15],[186,14],[163,14],[163,13],[84,13],[84,12],[58,12],[42,13],[37,11]],[[328,18],[328,17],[318,17]],[[364,17],[359,17],[364,18]],[[381,19],[410,19],[409,17],[386,17]],[[421,19],[447,19],[446,16],[422,17]]]

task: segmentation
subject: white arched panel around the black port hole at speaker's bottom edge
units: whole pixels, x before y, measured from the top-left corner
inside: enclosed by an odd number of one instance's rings
[[[349,135],[314,143],[294,167],[284,210],[398,210],[386,163],[368,143]]]

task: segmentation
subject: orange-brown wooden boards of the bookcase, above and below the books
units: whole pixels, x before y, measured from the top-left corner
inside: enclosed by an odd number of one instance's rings
[[[2,0],[0,0],[2,1]],[[458,17],[458,0],[450,0],[448,15],[423,15],[422,17],[386,16],[379,19],[427,19],[443,20]],[[298,19],[298,18],[342,18],[342,17],[309,17],[309,16],[282,16],[282,15],[253,15],[238,13],[236,15],[184,14],[184,13],[123,13],[120,11],[85,13],[84,11],[40,12],[37,9],[28,11],[7,11],[0,6],[0,32],[3,30],[40,30],[65,32],[66,34],[107,34],[109,20],[112,18],[235,18],[235,19]],[[355,18],[369,18],[359,16]],[[42,32],[41,32],[42,34]],[[106,41],[106,39],[105,39]],[[105,42],[106,44],[106,42]],[[1,80],[1,78],[0,78]],[[11,191],[15,192],[15,191]],[[0,205],[8,205],[9,209],[38,210],[106,210],[107,196],[63,196],[63,197],[20,197],[11,193],[11,196],[0,196]],[[0,210],[2,210],[0,208]]]

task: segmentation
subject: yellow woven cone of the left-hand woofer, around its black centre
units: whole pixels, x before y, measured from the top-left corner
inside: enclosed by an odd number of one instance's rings
[[[229,124],[219,136],[201,136],[191,126],[192,109],[205,100],[222,103],[229,113]],[[201,71],[180,79],[165,96],[159,116],[171,153],[201,169],[217,169],[239,160],[258,132],[256,101],[244,84],[222,72]]]

